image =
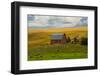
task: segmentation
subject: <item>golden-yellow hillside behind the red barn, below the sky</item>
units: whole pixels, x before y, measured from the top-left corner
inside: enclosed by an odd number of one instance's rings
[[[73,38],[78,37],[87,37],[88,29],[87,27],[80,28],[54,28],[54,29],[28,29],[28,45],[40,45],[40,44],[49,44],[50,35],[54,33],[65,33],[66,36]]]

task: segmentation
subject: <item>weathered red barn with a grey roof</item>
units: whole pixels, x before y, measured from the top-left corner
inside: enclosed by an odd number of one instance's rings
[[[66,44],[66,43],[67,43],[66,34],[58,33],[51,35],[51,44]]]

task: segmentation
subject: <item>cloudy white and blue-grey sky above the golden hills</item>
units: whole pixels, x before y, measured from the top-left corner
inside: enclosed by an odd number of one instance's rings
[[[27,15],[29,28],[68,28],[88,24],[87,17]]]

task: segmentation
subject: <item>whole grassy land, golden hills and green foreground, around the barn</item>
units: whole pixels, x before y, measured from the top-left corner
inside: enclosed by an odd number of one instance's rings
[[[57,60],[87,58],[87,45],[68,43],[65,45],[51,45],[50,35],[65,33],[73,38],[87,37],[87,27],[56,28],[56,29],[29,29],[28,30],[28,60]]]

